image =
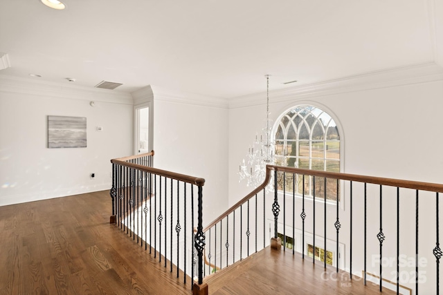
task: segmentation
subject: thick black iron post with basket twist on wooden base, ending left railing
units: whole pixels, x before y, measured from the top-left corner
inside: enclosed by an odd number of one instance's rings
[[[203,283],[203,250],[206,245],[205,234],[203,232],[203,187],[199,185],[199,204],[198,204],[198,225],[197,234],[195,234],[195,249],[197,249],[197,265],[198,265],[198,275],[199,280],[194,283],[192,287],[192,294],[194,295],[207,295],[208,285]]]

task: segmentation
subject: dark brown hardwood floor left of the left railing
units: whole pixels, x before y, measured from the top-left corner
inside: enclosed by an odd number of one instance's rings
[[[191,294],[110,215],[108,191],[0,207],[0,294]]]

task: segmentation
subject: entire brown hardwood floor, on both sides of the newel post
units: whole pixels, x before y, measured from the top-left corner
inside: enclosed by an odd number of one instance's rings
[[[110,213],[108,191],[0,207],[0,295],[192,294],[190,278],[183,284],[110,225]],[[380,294],[361,280],[322,273],[310,259],[268,247],[205,281],[219,295]]]

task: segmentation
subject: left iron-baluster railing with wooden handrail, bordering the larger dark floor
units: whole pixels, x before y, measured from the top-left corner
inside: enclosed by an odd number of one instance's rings
[[[116,224],[192,289],[203,283],[205,180],[152,167],[154,151],[111,160],[112,216]],[[194,229],[197,228],[197,232]],[[163,261],[163,262],[162,262]],[[197,267],[197,269],[196,269]]]

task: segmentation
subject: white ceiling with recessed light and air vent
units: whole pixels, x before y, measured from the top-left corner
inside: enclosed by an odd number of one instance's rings
[[[264,91],[266,74],[278,89],[438,64],[442,1],[0,0],[0,75],[232,99]]]

